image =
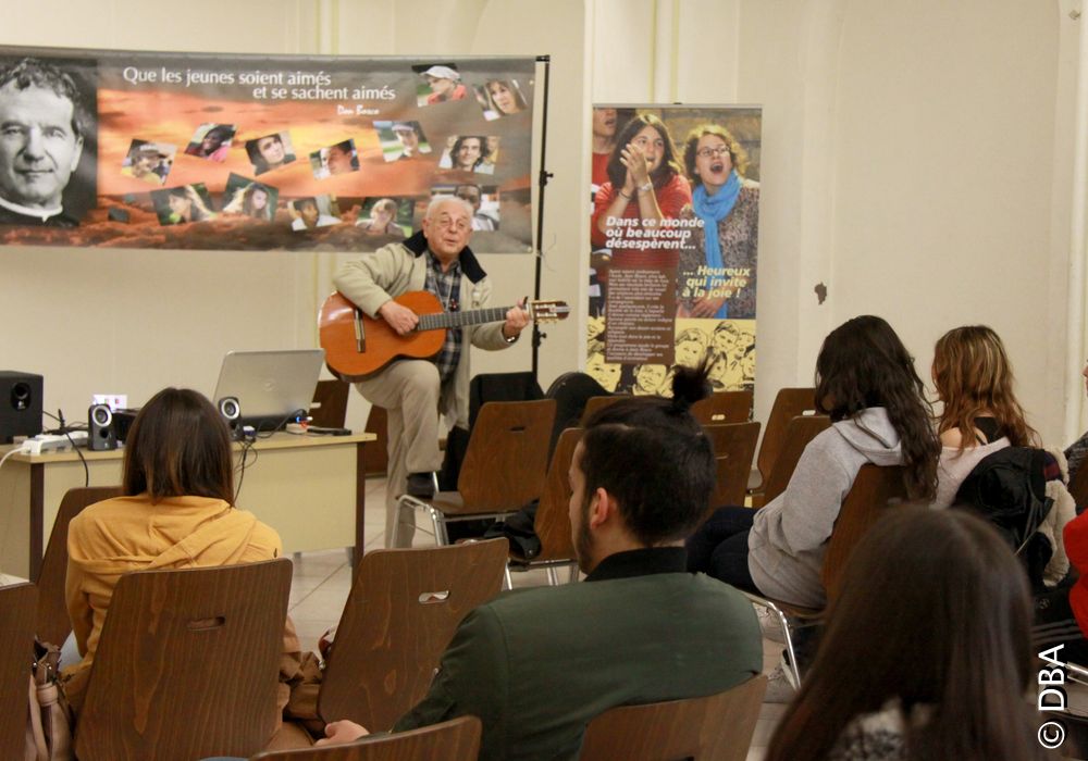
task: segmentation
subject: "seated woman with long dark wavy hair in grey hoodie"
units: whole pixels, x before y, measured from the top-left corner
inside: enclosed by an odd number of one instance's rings
[[[816,359],[816,407],[832,425],[805,447],[786,490],[759,510],[716,510],[688,541],[689,570],[819,608],[824,552],[862,465],[905,465],[908,495],[934,498],[939,446],[929,406],[887,322],[854,317],[828,334]]]

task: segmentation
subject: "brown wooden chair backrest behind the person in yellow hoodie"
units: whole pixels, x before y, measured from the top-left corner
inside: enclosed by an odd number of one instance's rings
[[[276,726],[290,561],[118,582],[76,727],[81,761],[248,757]]]

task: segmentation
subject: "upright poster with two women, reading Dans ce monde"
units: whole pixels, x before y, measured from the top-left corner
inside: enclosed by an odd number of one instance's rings
[[[586,372],[671,395],[710,359],[715,391],[755,386],[759,136],[753,107],[597,105]]]

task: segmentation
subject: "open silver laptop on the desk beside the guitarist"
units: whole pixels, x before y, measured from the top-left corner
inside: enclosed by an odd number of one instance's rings
[[[277,431],[309,412],[324,361],[324,349],[228,351],[212,401],[235,397],[243,425]]]

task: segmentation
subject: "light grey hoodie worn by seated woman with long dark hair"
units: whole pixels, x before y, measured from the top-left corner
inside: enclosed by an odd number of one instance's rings
[[[863,410],[814,438],[786,491],[756,511],[749,571],[759,591],[796,606],[823,607],[824,551],[857,471],[867,462],[902,461],[899,434],[882,407]]]

